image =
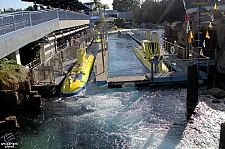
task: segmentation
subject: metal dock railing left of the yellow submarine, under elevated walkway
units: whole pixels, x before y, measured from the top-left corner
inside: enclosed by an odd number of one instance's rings
[[[44,62],[33,61],[26,65],[30,71],[32,84],[56,84],[56,78],[64,75],[64,67],[68,61],[74,60],[79,47],[85,46],[85,38],[81,36],[75,41],[56,48]],[[33,67],[32,67],[33,66]]]

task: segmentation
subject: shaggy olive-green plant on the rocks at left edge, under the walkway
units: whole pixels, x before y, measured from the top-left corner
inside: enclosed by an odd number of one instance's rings
[[[7,58],[0,59],[0,84],[10,86],[12,83],[19,83],[25,80],[25,76],[16,70],[22,66],[17,65],[15,61]]]

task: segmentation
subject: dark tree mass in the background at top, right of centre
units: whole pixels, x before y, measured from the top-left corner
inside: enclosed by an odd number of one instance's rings
[[[141,5],[139,0],[114,0],[113,9],[118,12],[133,11],[133,19],[137,23],[183,21],[185,16],[181,0],[145,0]]]

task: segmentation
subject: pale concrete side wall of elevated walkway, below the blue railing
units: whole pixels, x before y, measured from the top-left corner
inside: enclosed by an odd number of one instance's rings
[[[56,30],[89,24],[89,20],[51,20],[0,36],[0,59]]]

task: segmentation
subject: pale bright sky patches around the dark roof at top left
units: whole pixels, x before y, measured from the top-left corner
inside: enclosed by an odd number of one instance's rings
[[[93,2],[93,0],[79,0],[82,3],[85,2]],[[100,0],[102,4],[108,4],[109,8],[112,9],[112,3],[113,0]],[[33,3],[30,2],[22,2],[21,0],[0,0],[0,9],[3,11],[4,8],[13,8],[13,9],[18,9],[18,8],[27,8],[28,6],[32,6]]]

